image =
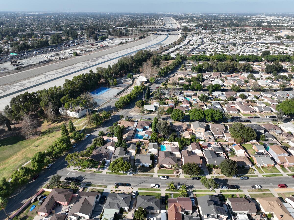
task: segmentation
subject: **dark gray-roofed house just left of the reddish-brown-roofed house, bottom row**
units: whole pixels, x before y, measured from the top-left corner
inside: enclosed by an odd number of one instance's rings
[[[142,207],[148,214],[160,213],[160,199],[156,199],[155,196],[141,196],[138,195],[136,202],[136,209]]]

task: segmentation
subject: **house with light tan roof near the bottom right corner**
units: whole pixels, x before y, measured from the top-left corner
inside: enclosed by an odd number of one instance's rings
[[[256,198],[261,211],[265,214],[273,213],[273,220],[293,220],[291,213],[287,210],[280,197]]]

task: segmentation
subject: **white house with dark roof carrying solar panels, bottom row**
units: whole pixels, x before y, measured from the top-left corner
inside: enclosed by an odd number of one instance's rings
[[[227,207],[216,196],[205,195],[197,197],[197,200],[202,220],[226,220],[230,216]]]

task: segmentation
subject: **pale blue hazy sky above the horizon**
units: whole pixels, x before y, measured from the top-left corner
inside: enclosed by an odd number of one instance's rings
[[[2,0],[0,2],[0,11],[294,13],[294,0]]]

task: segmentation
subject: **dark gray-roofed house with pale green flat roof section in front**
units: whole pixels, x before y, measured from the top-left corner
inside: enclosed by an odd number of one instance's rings
[[[120,209],[128,212],[131,203],[131,195],[122,193],[109,193],[103,206],[102,219],[113,220]]]

